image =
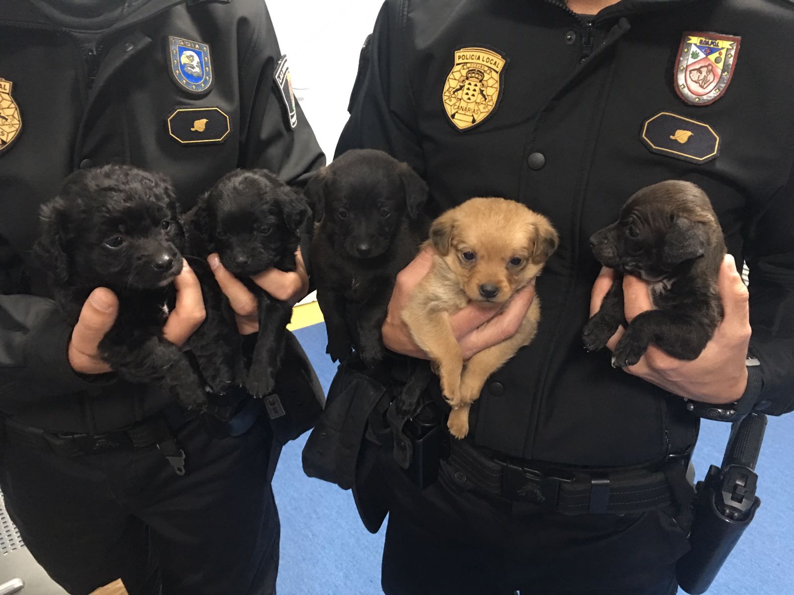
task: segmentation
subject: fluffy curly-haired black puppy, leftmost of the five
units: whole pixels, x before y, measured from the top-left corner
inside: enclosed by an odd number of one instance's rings
[[[164,383],[180,404],[202,404],[204,383],[162,330],[175,305],[172,282],[182,271],[185,241],[168,179],[120,165],[77,171],[40,216],[37,259],[67,317],[76,322],[98,286],[118,296],[118,317],[99,343],[102,359],[129,382]],[[205,301],[220,301],[206,263],[191,261],[191,268]],[[228,335],[208,316],[188,342],[210,390],[233,382],[233,362],[217,355],[228,349],[224,342],[233,344]]]

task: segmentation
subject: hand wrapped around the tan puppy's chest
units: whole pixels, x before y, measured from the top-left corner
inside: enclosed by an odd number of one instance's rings
[[[432,248],[422,250],[397,275],[386,321],[382,328],[384,345],[391,351],[428,359],[428,355],[411,338],[407,324],[403,322],[401,315],[414,288],[430,271],[433,254]],[[455,337],[461,344],[464,360],[514,336],[530,309],[534,297],[535,287],[529,285],[519,290],[503,309],[482,308],[476,304],[470,304],[449,317]]]

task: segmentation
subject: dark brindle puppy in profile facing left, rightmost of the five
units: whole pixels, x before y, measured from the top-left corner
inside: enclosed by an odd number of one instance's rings
[[[646,186],[590,244],[595,258],[615,269],[615,282],[584,326],[588,351],[604,347],[626,323],[622,277],[631,274],[649,283],[656,309],[626,327],[612,365],[633,366],[651,343],[676,359],[697,359],[723,319],[717,278],[726,248],[706,193],[681,180]]]

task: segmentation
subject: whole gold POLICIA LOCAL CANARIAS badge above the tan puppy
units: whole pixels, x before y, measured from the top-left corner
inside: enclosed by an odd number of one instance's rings
[[[509,59],[494,49],[460,48],[444,84],[444,109],[459,131],[482,124],[499,106],[499,87]]]

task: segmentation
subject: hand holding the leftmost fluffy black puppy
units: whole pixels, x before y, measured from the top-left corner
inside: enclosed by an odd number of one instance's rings
[[[195,273],[183,263],[174,278],[176,305],[163,327],[164,337],[182,346],[201,326],[206,312],[201,286]],[[105,374],[113,371],[99,355],[99,342],[113,327],[118,315],[118,298],[106,287],[97,287],[88,296],[71,332],[68,347],[69,365],[79,374]]]

